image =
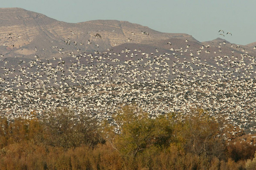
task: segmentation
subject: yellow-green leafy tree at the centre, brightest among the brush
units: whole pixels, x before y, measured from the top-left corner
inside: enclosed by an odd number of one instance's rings
[[[107,140],[123,155],[136,155],[151,146],[169,146],[172,141],[172,121],[168,116],[148,118],[134,106],[126,106],[114,116],[118,133],[108,126]],[[106,129],[105,129],[106,130]]]

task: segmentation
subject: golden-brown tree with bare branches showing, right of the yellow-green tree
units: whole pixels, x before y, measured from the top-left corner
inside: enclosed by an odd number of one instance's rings
[[[176,134],[181,147],[204,157],[224,158],[226,143],[222,124],[211,118],[204,110],[196,110],[177,123]]]

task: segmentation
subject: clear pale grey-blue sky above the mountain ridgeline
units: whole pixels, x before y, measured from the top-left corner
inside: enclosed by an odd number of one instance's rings
[[[0,7],[24,8],[69,23],[129,21],[188,33],[201,42],[217,37],[241,45],[256,41],[256,0],[0,0]],[[218,35],[220,29],[225,37]]]

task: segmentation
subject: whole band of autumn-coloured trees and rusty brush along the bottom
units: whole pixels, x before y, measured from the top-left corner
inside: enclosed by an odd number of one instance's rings
[[[133,106],[102,125],[66,109],[2,118],[0,169],[256,169],[252,135],[224,125],[203,110],[148,118]]]

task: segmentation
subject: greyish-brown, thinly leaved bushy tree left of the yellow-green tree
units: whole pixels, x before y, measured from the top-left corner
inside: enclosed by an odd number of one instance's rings
[[[99,133],[99,126],[95,119],[87,116],[75,115],[68,109],[59,109],[43,118],[46,142],[52,146],[65,149],[88,145],[96,146],[105,141]]]

